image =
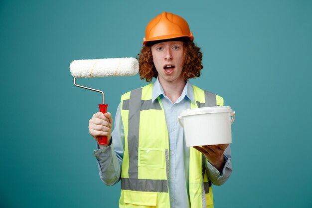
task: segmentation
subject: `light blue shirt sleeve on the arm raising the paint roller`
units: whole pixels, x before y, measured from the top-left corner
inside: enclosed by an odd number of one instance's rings
[[[125,134],[124,125],[118,105],[111,144],[107,147],[94,150],[94,156],[98,163],[99,175],[104,184],[112,186],[121,178],[121,166],[124,158]]]

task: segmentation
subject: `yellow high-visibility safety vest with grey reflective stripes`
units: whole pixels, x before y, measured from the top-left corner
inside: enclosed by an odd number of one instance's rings
[[[160,98],[152,102],[153,84],[121,97],[125,152],[121,172],[120,208],[170,208],[168,192],[169,138]],[[193,86],[191,108],[223,106],[223,98]],[[190,148],[191,208],[213,208],[207,160]],[[203,197],[205,196],[205,197]]]

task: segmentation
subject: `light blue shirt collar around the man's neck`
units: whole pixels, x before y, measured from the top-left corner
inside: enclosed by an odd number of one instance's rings
[[[160,95],[165,96],[163,88],[161,87],[158,77],[156,78],[154,85],[153,85],[153,91],[152,91],[152,102],[154,102],[157,97],[159,97]],[[194,90],[193,90],[193,86],[190,84],[189,81],[186,82],[182,94],[179,97],[179,99],[177,100],[177,102],[181,101],[182,99],[184,99],[184,97],[187,97],[192,103],[194,103]]]

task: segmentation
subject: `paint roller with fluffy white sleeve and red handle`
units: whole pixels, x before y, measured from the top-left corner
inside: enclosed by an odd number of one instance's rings
[[[102,58],[74,60],[70,63],[70,72],[74,77],[74,85],[84,89],[102,93],[100,112],[106,113],[108,104],[104,104],[104,92],[76,84],[76,78],[134,76],[139,72],[139,62],[136,58]],[[99,144],[107,144],[107,137],[100,136]]]

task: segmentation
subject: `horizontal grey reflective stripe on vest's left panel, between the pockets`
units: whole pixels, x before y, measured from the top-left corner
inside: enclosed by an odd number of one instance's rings
[[[151,179],[121,179],[121,189],[137,192],[164,192],[168,193],[167,180]]]

